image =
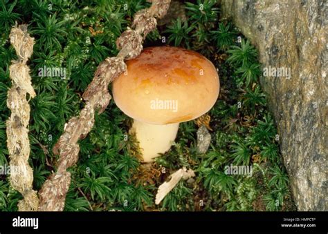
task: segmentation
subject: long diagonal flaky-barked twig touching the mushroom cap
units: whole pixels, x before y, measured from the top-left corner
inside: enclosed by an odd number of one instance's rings
[[[62,211],[66,193],[71,183],[71,173],[67,168],[78,162],[80,147],[78,140],[86,137],[94,123],[95,109],[100,113],[109,104],[111,95],[107,90],[109,83],[127,70],[125,59],[137,57],[143,49],[143,39],[156,28],[156,18],[163,17],[170,5],[170,0],[152,0],[152,6],[138,11],[134,23],[116,41],[120,52],[117,57],[105,59],[95,71],[93,81],[86,88],[83,98],[85,107],[78,117],[73,117],[57,144],[53,148],[60,155],[57,162],[57,172],[49,177],[39,191],[39,211]]]

